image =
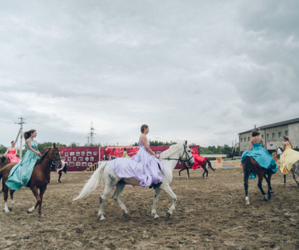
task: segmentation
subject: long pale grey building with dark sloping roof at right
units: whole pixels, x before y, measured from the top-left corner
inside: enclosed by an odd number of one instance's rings
[[[259,128],[247,130],[238,134],[240,151],[250,150],[251,132],[258,130],[264,140],[267,150],[275,150],[282,146],[283,136],[288,136],[293,147],[299,147],[299,118],[268,124]]]

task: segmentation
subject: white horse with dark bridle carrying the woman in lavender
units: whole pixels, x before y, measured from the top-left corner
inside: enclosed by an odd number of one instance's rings
[[[172,171],[173,169],[175,169],[177,162],[179,160],[184,161],[187,162],[187,165],[189,166],[192,166],[194,164],[194,159],[191,154],[190,148],[187,146],[187,141],[184,141],[184,143],[171,145],[166,151],[162,152],[162,154],[160,155],[160,159],[162,160],[164,166],[165,175],[161,180],[161,186],[155,189],[154,205],[152,209],[152,216],[154,216],[155,219],[159,219],[159,215],[157,214],[156,209],[161,189],[164,190],[165,193],[167,193],[172,198],[172,205],[166,213],[167,217],[170,217],[170,215],[176,209],[177,195],[173,193],[169,184],[172,181]],[[98,216],[100,217],[100,221],[105,221],[105,217],[103,214],[104,202],[108,194],[115,186],[116,189],[112,197],[115,199],[115,201],[118,203],[121,210],[123,211],[123,216],[129,217],[127,208],[120,201],[119,195],[126,184],[139,185],[140,181],[138,181],[135,178],[117,177],[113,169],[107,166],[106,163],[101,164],[97,168],[97,170],[92,174],[91,178],[88,180],[88,182],[81,190],[79,196],[74,198],[73,201],[86,197],[91,192],[93,192],[99,184],[103,185],[103,182],[105,182],[105,188],[102,194],[99,196]]]

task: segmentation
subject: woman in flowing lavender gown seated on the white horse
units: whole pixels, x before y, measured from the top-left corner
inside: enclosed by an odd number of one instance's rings
[[[159,187],[164,176],[164,167],[159,155],[152,151],[146,135],[150,131],[146,124],[140,128],[139,151],[130,159],[117,158],[107,162],[119,178],[135,178],[140,186]]]

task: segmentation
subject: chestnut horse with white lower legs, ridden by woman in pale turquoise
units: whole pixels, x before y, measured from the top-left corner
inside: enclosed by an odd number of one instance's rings
[[[14,165],[17,163],[10,163],[2,169],[3,174],[3,183],[5,183],[8,179],[9,172],[13,168]],[[55,143],[52,148],[50,148],[48,151],[46,151],[40,159],[37,160],[31,179],[29,180],[27,187],[30,187],[32,190],[35,198],[36,198],[36,204],[32,208],[28,210],[28,213],[31,213],[34,209],[38,207],[38,213],[39,217],[43,218],[44,215],[41,212],[41,204],[42,204],[42,196],[47,188],[47,184],[50,182],[50,171],[57,169],[57,166],[61,165],[61,152],[60,152],[60,146],[56,147]],[[7,198],[8,198],[8,187],[6,184],[4,184],[4,210],[6,213],[12,210],[14,200],[13,200],[13,193],[15,190],[10,189],[10,197],[11,197],[11,207],[8,208],[7,206]],[[38,193],[39,189],[39,193]]]

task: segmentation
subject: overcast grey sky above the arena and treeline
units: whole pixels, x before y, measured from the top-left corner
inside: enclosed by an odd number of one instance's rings
[[[299,1],[1,1],[0,144],[232,145],[299,117]]]

